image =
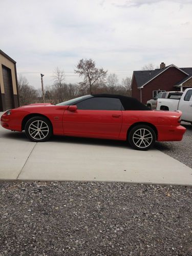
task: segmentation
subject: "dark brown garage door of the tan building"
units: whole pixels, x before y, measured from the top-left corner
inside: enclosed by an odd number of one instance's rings
[[[11,71],[5,67],[2,67],[2,71],[5,90],[5,109],[9,110],[13,108]]]

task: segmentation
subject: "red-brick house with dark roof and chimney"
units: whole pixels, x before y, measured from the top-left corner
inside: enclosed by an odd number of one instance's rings
[[[159,92],[183,91],[192,87],[192,68],[178,68],[175,65],[160,69],[134,71],[132,78],[132,97],[146,103]]]

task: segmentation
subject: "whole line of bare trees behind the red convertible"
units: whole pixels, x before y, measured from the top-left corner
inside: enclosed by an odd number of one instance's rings
[[[81,59],[74,70],[82,81],[66,83],[65,71],[58,67],[53,71],[52,86],[45,87],[45,101],[53,104],[86,94],[121,94],[131,96],[131,77],[119,82],[118,76],[108,74],[107,70],[97,68],[93,59]],[[42,102],[41,89],[30,86],[27,78],[19,75],[18,94],[20,105]]]

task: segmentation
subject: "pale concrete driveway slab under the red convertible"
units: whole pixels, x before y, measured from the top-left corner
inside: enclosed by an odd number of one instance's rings
[[[1,115],[2,113],[0,113]],[[0,126],[1,180],[119,181],[192,185],[192,169],[158,150],[124,141],[54,136],[30,142]]]

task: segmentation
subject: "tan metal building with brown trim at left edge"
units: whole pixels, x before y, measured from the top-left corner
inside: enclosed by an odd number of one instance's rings
[[[16,62],[0,50],[0,111],[19,105]]]

